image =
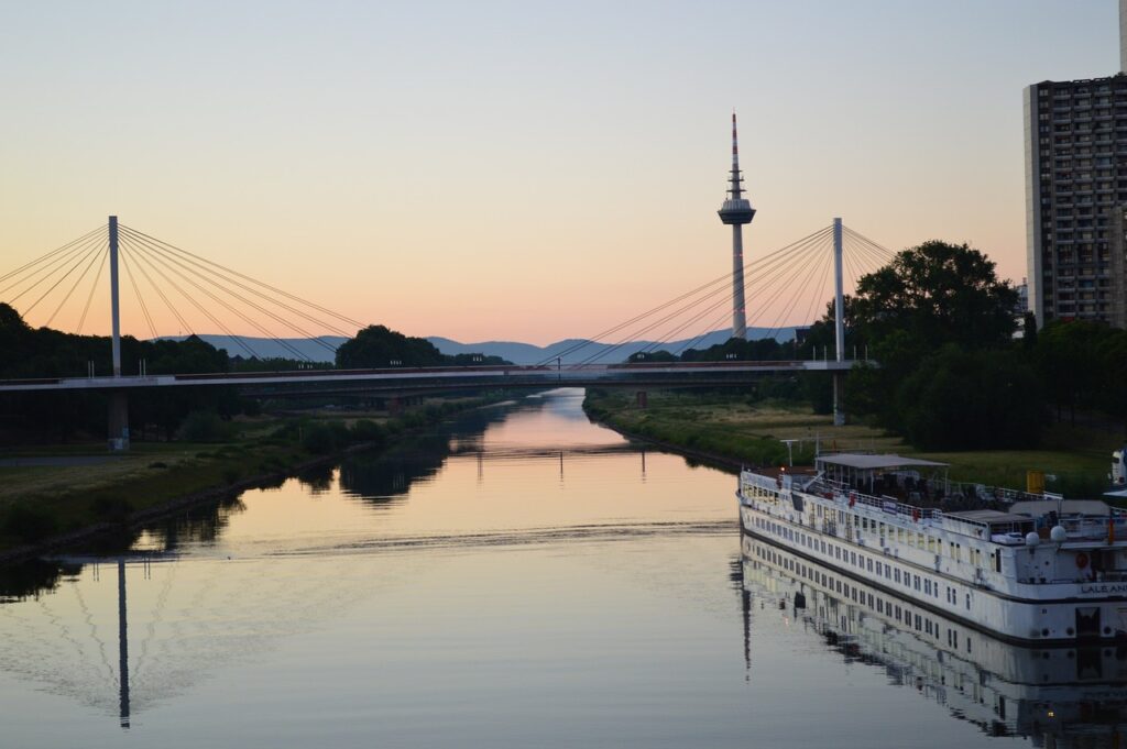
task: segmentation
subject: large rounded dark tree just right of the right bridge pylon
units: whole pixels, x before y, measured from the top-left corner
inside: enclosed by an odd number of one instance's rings
[[[1040,387],[1009,353],[1018,293],[966,244],[930,241],[862,276],[846,323],[879,367],[854,368],[846,407],[929,448],[1028,446]],[[820,332],[833,321],[827,312]]]

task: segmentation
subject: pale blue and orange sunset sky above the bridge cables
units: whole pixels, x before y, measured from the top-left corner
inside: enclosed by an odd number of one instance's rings
[[[9,2],[0,275],[117,214],[409,335],[591,336],[728,270],[736,109],[748,261],[842,216],[893,249],[968,242],[1020,280],[1022,88],[1117,72],[1117,12]],[[128,305],[124,328],[148,336]]]

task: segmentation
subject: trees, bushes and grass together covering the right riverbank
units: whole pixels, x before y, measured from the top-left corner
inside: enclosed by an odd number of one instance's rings
[[[1019,331],[1019,321],[1021,330]],[[1056,476],[1071,496],[1106,487],[1127,427],[1127,331],[1021,320],[1017,291],[967,246],[925,242],[863,276],[844,300],[844,378],[851,423],[834,427],[823,373],[764,377],[739,395],[591,393],[588,413],[616,429],[749,464],[796,463],[814,445],[896,451],[952,466],[952,478],[1023,488],[1026,472]],[[682,360],[834,358],[833,304],[800,341],[731,339]],[[641,359],[677,358],[647,353]],[[631,394],[632,395],[632,394]]]

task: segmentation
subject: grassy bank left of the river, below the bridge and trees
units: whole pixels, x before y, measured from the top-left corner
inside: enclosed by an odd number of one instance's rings
[[[134,443],[121,455],[107,454],[104,442],[6,449],[0,554],[127,523],[176,500],[277,480],[350,447],[381,447],[495,400],[432,401],[393,418],[344,411],[260,416],[224,422],[207,442]]]

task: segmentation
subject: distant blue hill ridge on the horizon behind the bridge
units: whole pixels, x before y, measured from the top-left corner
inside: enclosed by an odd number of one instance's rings
[[[790,340],[795,337],[795,328],[782,328],[780,330],[772,330],[767,328],[748,328],[747,337],[751,340],[758,340],[762,338],[767,338],[769,333],[774,332],[775,340],[784,341]],[[715,330],[707,336],[704,336],[700,341],[698,341],[693,348],[702,349],[709,346],[715,346],[717,344],[724,344],[731,337],[728,329]],[[171,337],[174,340],[180,340],[183,337]],[[231,336],[211,336],[201,335],[199,338],[207,341],[215,348],[225,348],[227,353],[231,356],[242,356],[243,358],[249,357],[247,349],[243,348],[238,340]],[[239,340],[242,340],[247,346],[249,346],[259,358],[295,358],[293,351],[287,349],[285,346],[278,344],[278,341],[273,338],[251,338],[248,336],[240,336]],[[301,354],[313,362],[332,362],[332,351],[325,348],[317,340],[311,338],[283,338],[287,346],[293,347],[293,349],[301,351]],[[343,336],[321,336],[319,340],[326,344],[337,347],[344,344],[347,338]],[[564,354],[567,349],[576,346],[580,342],[585,342],[582,338],[568,338],[565,340],[556,341],[554,344],[549,344],[548,346],[535,346],[533,344],[522,344],[520,341],[480,341],[477,344],[462,344],[450,338],[442,338],[441,336],[428,336],[427,340],[434,344],[443,354],[456,355],[456,354],[485,354],[487,356],[499,356],[503,359],[507,359],[513,364],[538,364],[545,360],[556,360],[556,357],[561,357],[564,364],[579,364],[588,358],[596,356],[597,354],[603,354],[603,356],[595,359],[598,364],[613,364],[616,362],[623,362],[631,354],[647,349],[653,346],[654,341],[638,340],[630,341],[629,344],[622,344],[621,346],[614,347],[609,344],[588,344],[583,348],[570,354]],[[662,344],[657,348],[665,349],[667,351],[678,351],[683,347],[687,347],[690,342],[695,340],[694,338],[683,338],[676,341],[668,341]],[[614,349],[609,351],[609,349]]]

